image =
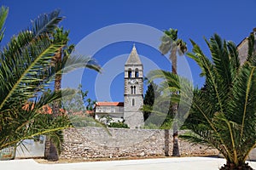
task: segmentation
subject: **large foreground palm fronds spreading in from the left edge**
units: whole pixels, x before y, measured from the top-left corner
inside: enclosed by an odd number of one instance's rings
[[[74,94],[75,90],[61,89],[48,92],[55,75],[63,72],[64,66],[52,65],[55,54],[65,46],[53,42],[52,36],[62,20],[60,11],[43,14],[32,22],[32,27],[20,31],[0,51],[0,150],[23,139],[32,139],[40,134],[51,135],[70,127],[67,116],[42,114],[44,105]],[[0,10],[0,35],[8,8]],[[68,65],[65,65],[68,59]],[[94,59],[70,55],[63,57],[65,71],[89,67],[99,71]]]

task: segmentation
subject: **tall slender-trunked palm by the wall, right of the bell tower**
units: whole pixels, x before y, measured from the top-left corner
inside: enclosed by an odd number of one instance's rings
[[[160,52],[162,54],[168,54],[169,59],[172,61],[172,73],[177,74],[177,54],[183,55],[187,51],[186,42],[183,42],[182,39],[177,38],[177,29],[173,30],[172,28],[164,31],[165,35],[161,37],[161,44],[160,44]],[[174,92],[173,94],[175,94]],[[177,116],[177,103],[172,104],[172,114],[174,117]],[[166,129],[165,131],[165,155],[169,156],[169,130]],[[178,139],[177,139],[177,122],[173,122],[173,149],[172,149],[172,156],[180,156],[179,149],[178,149]]]

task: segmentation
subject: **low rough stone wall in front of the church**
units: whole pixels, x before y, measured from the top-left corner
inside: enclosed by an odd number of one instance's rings
[[[183,132],[182,132],[183,133]],[[170,131],[172,135],[172,131]],[[102,127],[65,130],[61,158],[112,158],[121,156],[164,156],[164,130]],[[172,138],[169,152],[172,155]],[[218,150],[179,140],[182,156],[218,155]]]

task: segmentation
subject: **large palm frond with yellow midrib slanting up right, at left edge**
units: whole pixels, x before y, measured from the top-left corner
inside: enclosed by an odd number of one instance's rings
[[[10,101],[12,96],[29,99],[35,95],[35,84],[43,82],[42,79],[38,78],[38,75],[45,74],[43,68],[50,65],[49,60],[52,59],[53,54],[55,54],[60,48],[61,44],[52,44],[49,39],[44,37],[38,37],[37,41],[32,42],[22,54],[16,54],[13,57],[13,62],[15,65],[21,64],[20,59],[25,61],[25,63],[20,67],[20,70],[9,69],[8,62],[2,61],[2,68],[0,71],[4,75],[9,83],[5,83],[6,86],[1,88],[2,98],[0,109],[5,105],[11,105]],[[15,77],[14,77],[15,76]],[[47,75],[44,75],[47,77]],[[2,80],[3,81],[3,80]],[[4,82],[0,82],[4,84]],[[11,90],[8,90],[11,89]]]

